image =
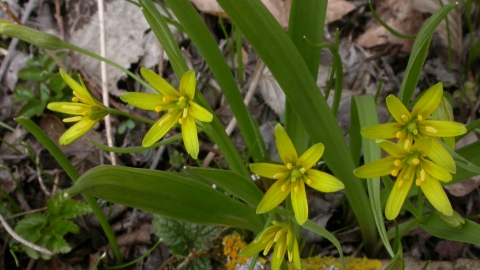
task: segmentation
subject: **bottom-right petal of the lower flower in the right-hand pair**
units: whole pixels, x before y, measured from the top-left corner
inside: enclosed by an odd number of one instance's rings
[[[427,177],[427,180],[422,182],[420,188],[435,209],[444,215],[453,215],[452,205],[448,200],[447,194],[445,194],[445,190],[443,190],[442,185],[440,185],[437,179]]]

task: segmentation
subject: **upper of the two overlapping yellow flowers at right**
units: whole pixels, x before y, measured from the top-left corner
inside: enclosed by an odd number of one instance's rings
[[[455,173],[455,162],[450,153],[442,146],[436,137],[454,137],[467,132],[460,123],[452,121],[428,119],[437,109],[443,98],[442,83],[437,83],[428,89],[413,107],[412,112],[394,95],[387,97],[387,108],[396,120],[395,123],[386,123],[368,126],[361,130],[362,136],[368,139],[397,138],[398,144],[409,149],[414,140],[424,137],[432,139],[431,156],[443,160],[441,166]]]

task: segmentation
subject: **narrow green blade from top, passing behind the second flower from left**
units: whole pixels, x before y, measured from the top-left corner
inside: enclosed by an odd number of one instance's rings
[[[177,77],[181,78],[181,76],[188,71],[188,67],[167,23],[152,1],[141,0],[139,2],[142,6],[142,12],[145,19],[167,53]],[[248,172],[242,157],[238,154],[237,149],[227,133],[225,133],[222,123],[218,117],[216,117],[212,108],[208,105],[205,98],[198,90],[195,94],[195,102],[208,109],[213,114],[213,120],[205,128],[205,133],[218,145],[218,148],[227,160],[231,169],[249,179],[250,173]]]

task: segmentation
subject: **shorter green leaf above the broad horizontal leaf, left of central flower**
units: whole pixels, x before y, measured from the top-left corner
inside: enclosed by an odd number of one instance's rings
[[[187,167],[186,170],[207,183],[214,183],[222,187],[255,208],[262,200],[263,193],[255,186],[253,180],[245,179],[236,172],[197,167]]]

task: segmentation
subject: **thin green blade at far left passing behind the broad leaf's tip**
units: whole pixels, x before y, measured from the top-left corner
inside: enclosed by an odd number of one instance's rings
[[[68,176],[70,177],[70,179],[72,179],[73,182],[77,181],[80,175],[78,174],[75,167],[73,167],[72,163],[63,154],[62,150],[58,148],[58,146],[47,136],[47,134],[45,134],[45,132],[43,132],[42,129],[40,129],[40,127],[38,127],[32,120],[28,118],[19,117],[15,118],[15,121],[24,126],[28,131],[30,131],[30,133],[32,133],[32,135],[35,136],[35,138],[37,138],[37,140],[43,146],[45,146],[45,148],[47,148],[50,154],[52,154],[52,156],[58,161],[60,166],[62,166],[62,168],[65,170],[65,172],[68,174]],[[102,209],[98,205],[95,198],[93,198],[92,196],[83,195],[83,198],[85,198],[85,201],[90,205],[93,213],[95,214],[98,222],[100,223],[100,226],[102,226],[103,231],[105,232],[108,242],[110,243],[110,246],[112,248],[113,254],[117,259],[117,263],[122,264],[123,258],[120,254],[120,248],[118,247],[117,241],[115,239],[115,233],[110,227],[110,224],[108,224],[108,220],[103,214]]]

